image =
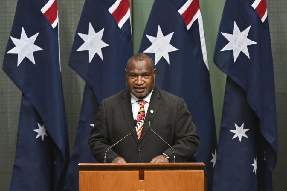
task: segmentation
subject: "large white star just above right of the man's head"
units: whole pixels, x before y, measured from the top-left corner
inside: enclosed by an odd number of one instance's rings
[[[170,57],[168,53],[178,50],[170,44],[173,33],[174,32],[164,36],[161,32],[161,27],[158,25],[158,33],[156,37],[146,35],[152,45],[148,47],[144,53],[155,53],[155,65],[158,63],[161,57],[164,57],[167,63],[170,64]]]

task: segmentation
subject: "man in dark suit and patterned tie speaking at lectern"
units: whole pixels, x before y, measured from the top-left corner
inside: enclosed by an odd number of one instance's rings
[[[155,87],[152,59],[138,53],[125,70],[127,89],[102,101],[88,143],[97,161],[106,150],[134,128],[136,131],[110,149],[107,162],[169,162],[174,150],[176,162],[187,161],[199,148],[199,137],[184,100]],[[179,74],[180,75],[180,74]]]

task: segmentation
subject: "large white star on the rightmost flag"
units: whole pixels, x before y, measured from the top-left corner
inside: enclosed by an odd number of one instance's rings
[[[243,52],[249,59],[249,52],[247,46],[257,44],[247,38],[251,26],[240,32],[236,22],[234,21],[233,34],[221,33],[229,42],[220,51],[233,50],[234,62],[236,61],[240,52]]]

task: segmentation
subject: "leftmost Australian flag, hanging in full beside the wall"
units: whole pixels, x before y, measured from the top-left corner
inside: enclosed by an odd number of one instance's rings
[[[3,70],[22,92],[10,190],[62,190],[69,143],[57,1],[18,1]]]

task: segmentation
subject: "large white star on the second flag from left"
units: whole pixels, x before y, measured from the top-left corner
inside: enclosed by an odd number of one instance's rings
[[[92,59],[94,58],[95,54],[97,53],[102,60],[103,54],[102,54],[102,48],[109,46],[109,44],[106,44],[104,41],[102,41],[104,29],[100,30],[99,32],[95,32],[93,26],[91,23],[89,23],[89,33],[82,34],[78,33],[78,35],[85,41],[77,51],[89,51],[89,63],[91,63]]]

